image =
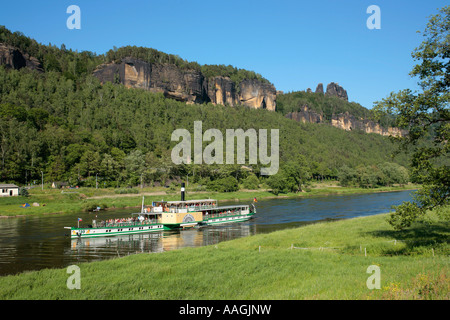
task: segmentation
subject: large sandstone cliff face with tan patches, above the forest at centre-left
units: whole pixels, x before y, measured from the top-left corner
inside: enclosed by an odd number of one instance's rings
[[[150,64],[125,58],[121,63],[99,66],[94,75],[102,82],[162,92],[166,97],[187,103],[245,105],[275,111],[276,89],[255,79],[234,83],[229,77],[205,78],[200,71],[180,69],[173,64]]]

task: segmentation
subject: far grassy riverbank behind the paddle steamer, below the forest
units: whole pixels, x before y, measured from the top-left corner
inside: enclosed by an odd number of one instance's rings
[[[237,192],[208,192],[193,191],[187,188],[186,198],[195,199],[217,199],[219,201],[252,201],[269,198],[296,198],[314,197],[326,195],[344,195],[373,192],[392,192],[417,189],[416,185],[405,185],[395,187],[381,187],[374,189],[340,187],[336,183],[317,183],[307,191],[299,193],[287,193],[275,195],[268,190],[240,190]],[[82,211],[92,211],[96,207],[102,210],[120,208],[139,208],[142,196],[145,196],[145,204],[152,201],[179,200],[179,190],[167,188],[144,188],[135,190],[138,193],[116,194],[114,189],[31,189],[29,197],[5,197],[0,198],[0,218],[13,218],[24,216],[44,216],[48,214],[67,214]],[[29,207],[22,207],[28,203]]]

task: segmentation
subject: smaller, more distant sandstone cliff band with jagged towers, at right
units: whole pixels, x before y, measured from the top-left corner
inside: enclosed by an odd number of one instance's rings
[[[404,137],[408,133],[406,130],[399,128],[384,128],[372,120],[358,119],[348,112],[332,115],[331,121],[326,121],[322,114],[309,110],[308,106],[303,106],[296,112],[289,112],[286,118],[298,122],[327,123],[346,131],[361,130],[365,133],[376,133],[382,136]]]

